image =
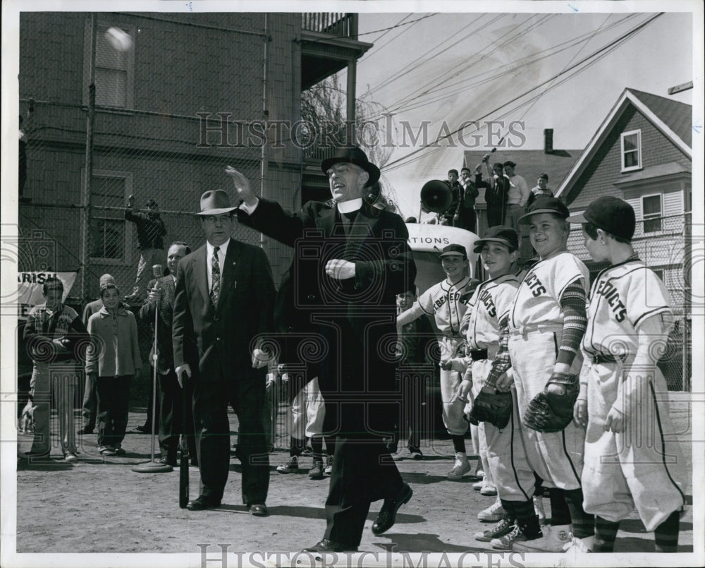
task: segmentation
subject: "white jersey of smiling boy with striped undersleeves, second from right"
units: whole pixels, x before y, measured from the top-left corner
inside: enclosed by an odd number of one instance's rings
[[[568,286],[582,279],[587,295],[590,273],[582,260],[567,250],[539,260],[522,280],[509,313],[510,329],[550,322],[563,324],[560,297]]]

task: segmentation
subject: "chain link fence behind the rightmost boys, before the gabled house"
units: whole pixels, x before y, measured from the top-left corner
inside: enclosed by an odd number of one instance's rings
[[[668,337],[666,353],[658,364],[666,377],[669,390],[690,391],[692,384],[692,318],[691,318],[691,218],[689,213],[637,220],[632,246],[639,258],[663,281],[670,295],[675,323]],[[568,250],[590,268],[591,280],[606,268],[591,262],[577,226],[570,231]]]

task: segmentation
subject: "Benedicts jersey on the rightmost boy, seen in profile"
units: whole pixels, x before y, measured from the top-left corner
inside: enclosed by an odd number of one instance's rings
[[[638,258],[600,272],[590,289],[586,354],[619,357],[635,354],[639,324],[651,315],[673,314],[668,290]]]

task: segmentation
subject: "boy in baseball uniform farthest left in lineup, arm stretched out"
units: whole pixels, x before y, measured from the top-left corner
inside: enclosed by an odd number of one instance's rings
[[[472,295],[477,281],[470,278],[469,263],[465,247],[450,244],[439,255],[446,279],[431,286],[411,308],[397,316],[397,332],[402,335],[403,326],[422,315],[431,315],[442,334],[439,339],[441,361],[453,358],[462,344],[460,337],[460,320],[465,315],[467,301]],[[458,397],[460,373],[452,369],[441,368],[441,399],[443,401],[443,425],[453,440],[455,462],[448,473],[448,479],[458,481],[470,471],[465,450],[465,433],[467,421],[463,415],[465,402]]]

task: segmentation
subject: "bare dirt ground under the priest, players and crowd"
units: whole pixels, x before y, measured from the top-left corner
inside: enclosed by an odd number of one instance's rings
[[[65,464],[55,444],[50,459],[18,466],[17,552],[23,555],[101,553],[100,557],[92,557],[93,566],[124,565],[121,559],[125,557],[114,556],[121,553],[180,553],[188,556],[165,557],[171,559],[168,565],[205,567],[224,564],[204,562],[203,550],[209,559],[221,558],[221,550],[226,550],[231,566],[246,565],[248,558],[253,565],[286,564],[288,560],[269,560],[263,564],[259,557],[244,557],[236,562],[238,551],[281,551],[288,552],[288,557],[290,552],[317,543],[324,532],[328,479],[309,479],[310,457],[302,458],[299,473],[282,475],[275,470],[288,457],[288,434],[283,430],[285,414],[286,408],[281,406],[275,451],[270,456],[269,517],[257,518],[246,512],[240,499],[240,464],[234,456],[223,506],[205,512],[179,509],[178,470],[131,471],[135,464],[149,460],[151,446],[149,435],[133,432],[135,426],[145,421],[144,409],[135,409],[130,412],[128,435],[123,443],[128,452],[126,457],[100,456],[95,436],[88,435],[81,437],[77,464]],[[687,400],[673,405],[673,418],[678,430],[687,432],[681,439],[689,439]],[[235,433],[234,415],[231,428]],[[690,467],[692,449],[687,444],[682,447],[685,466]],[[447,554],[492,550],[489,543],[474,540],[473,535],[488,526],[478,521],[476,515],[494,502],[494,497],[479,495],[472,489],[470,478],[460,482],[446,479],[452,466],[450,440],[424,440],[422,449],[424,459],[420,461],[410,459],[406,449],[401,450],[397,461],[403,478],[414,490],[412,500],[400,509],[396,525],[381,536],[374,536],[369,530],[381,506],[381,502],[374,503],[360,550],[382,555],[386,550]],[[692,485],[686,490],[690,507],[680,524],[679,552],[692,552],[693,544]],[[198,471],[193,467],[190,493],[192,497],[198,495]],[[544,503],[548,514],[548,499]],[[4,530],[8,530],[6,524]],[[653,535],[645,533],[636,514],[622,522],[615,552],[644,554],[653,550]],[[373,565],[376,559],[372,557],[357,565]],[[25,565],[49,565],[42,560],[38,562]],[[470,560],[467,562],[472,564]],[[560,564],[565,562],[560,560]],[[156,564],[150,562],[150,565]]]

